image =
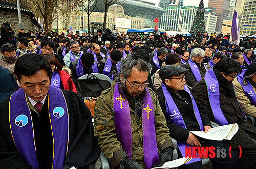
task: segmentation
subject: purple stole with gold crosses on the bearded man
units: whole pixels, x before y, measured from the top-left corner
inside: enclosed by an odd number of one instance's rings
[[[143,99],[142,107],[142,130],[143,130],[143,154],[145,168],[150,169],[155,163],[159,162],[159,155],[156,142],[156,132],[154,123],[154,109],[150,92],[145,88],[147,95]],[[129,102],[125,98],[123,91],[118,83],[114,89],[114,119],[116,126],[117,139],[122,145],[123,150],[132,158],[133,133],[131,125],[131,112]]]

